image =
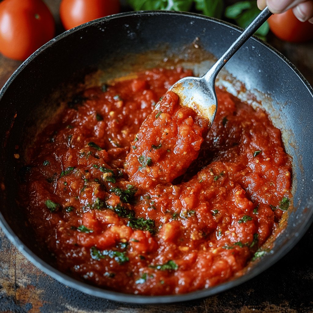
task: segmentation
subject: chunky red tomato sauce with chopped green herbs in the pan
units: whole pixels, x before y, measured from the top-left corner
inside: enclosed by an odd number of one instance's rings
[[[152,69],[86,89],[36,138],[23,200],[61,271],[110,290],[177,294],[262,255],[289,206],[291,158],[264,110],[220,89],[207,134],[206,120],[165,94],[191,74]]]

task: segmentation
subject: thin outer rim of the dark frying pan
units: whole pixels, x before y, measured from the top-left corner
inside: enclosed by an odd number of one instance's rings
[[[128,16],[144,16],[144,15],[185,15],[188,17],[194,18],[202,18],[205,20],[213,21],[214,23],[218,23],[224,25],[228,28],[233,30],[242,31],[241,28],[227,23],[220,21],[215,18],[209,18],[197,13],[186,13],[186,12],[173,12],[173,11],[137,11],[137,12],[126,12],[126,13],[119,13],[112,16],[100,18],[80,26],[77,26],[73,29],[70,29],[59,36],[53,38],[48,43],[44,44],[41,48],[36,50],[28,59],[26,59],[16,71],[12,74],[12,76],[8,79],[8,81],[4,84],[3,88],[0,90],[0,100],[4,95],[5,91],[8,89],[9,85],[11,85],[12,81],[18,76],[18,74],[40,53],[42,53],[45,49],[50,47],[54,42],[61,40],[62,38],[67,37],[69,34],[74,33],[80,29],[88,27],[89,25],[97,24],[99,22],[120,18],[120,17],[128,17]],[[267,49],[271,50],[276,56],[282,59],[300,78],[300,80],[304,83],[306,88],[308,89],[309,93],[312,95],[313,98],[313,89],[310,86],[309,82],[303,77],[303,75],[299,72],[298,69],[288,60],[286,59],[279,51],[275,48],[271,47],[269,44],[263,42],[259,38],[253,36],[253,39],[256,40],[259,44],[263,45]],[[8,236],[11,242],[17,247],[17,249],[29,260],[31,261],[37,268],[43,270],[46,274],[50,275],[54,279],[58,280],[59,282],[70,286],[76,290],[83,291],[88,295],[93,295],[99,298],[119,301],[119,302],[127,302],[133,304],[155,304],[155,303],[175,303],[187,300],[195,300],[203,297],[208,297],[211,295],[215,295],[221,291],[228,290],[235,286],[242,284],[245,281],[248,281],[255,276],[262,273],[264,270],[268,269],[271,265],[276,263],[279,259],[281,259],[285,254],[287,254],[294,246],[299,242],[301,237],[305,234],[305,232],[310,227],[310,224],[313,222],[313,210],[310,212],[310,218],[305,219],[304,223],[300,231],[297,233],[297,236],[294,236],[288,240],[288,242],[284,245],[284,249],[280,249],[275,253],[275,256],[269,258],[270,255],[267,255],[263,258],[263,262],[259,264],[258,267],[254,267],[254,269],[250,270],[247,274],[240,276],[239,278],[230,280],[228,282],[222,283],[217,286],[210,287],[208,289],[197,290],[194,292],[190,292],[187,294],[181,295],[160,295],[160,296],[146,296],[146,295],[133,295],[133,294],[125,294],[121,292],[115,292],[110,290],[105,290],[100,287],[95,287],[92,285],[88,285],[85,282],[76,280],[59,270],[55,269],[48,263],[44,262],[38,255],[34,254],[23,242],[18,238],[18,236],[13,232],[12,228],[8,225],[7,221],[4,219],[2,213],[0,212],[0,226],[3,229],[4,233]]]

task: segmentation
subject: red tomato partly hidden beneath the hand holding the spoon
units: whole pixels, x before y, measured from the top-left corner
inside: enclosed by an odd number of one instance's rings
[[[300,22],[292,10],[273,14],[269,19],[269,28],[278,38],[290,42],[305,42],[313,38],[313,24]]]

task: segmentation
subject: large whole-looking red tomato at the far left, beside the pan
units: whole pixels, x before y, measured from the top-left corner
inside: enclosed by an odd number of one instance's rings
[[[0,52],[23,61],[54,37],[55,23],[41,0],[0,3]]]

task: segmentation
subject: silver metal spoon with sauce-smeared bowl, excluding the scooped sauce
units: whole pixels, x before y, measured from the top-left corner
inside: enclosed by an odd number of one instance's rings
[[[190,107],[199,115],[208,118],[212,125],[217,110],[214,85],[218,72],[271,15],[272,13],[266,7],[202,77],[184,77],[172,85],[169,91],[175,92],[179,96],[180,104]]]

